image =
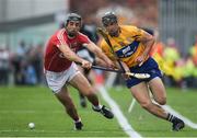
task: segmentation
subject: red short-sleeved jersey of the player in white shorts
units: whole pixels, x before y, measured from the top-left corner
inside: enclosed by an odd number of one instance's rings
[[[83,45],[91,41],[86,35],[78,33],[74,38],[69,38],[65,28],[57,31],[48,41],[45,50],[44,66],[46,70],[61,72],[68,69],[72,61],[67,59],[59,50],[59,46],[69,46],[74,53]],[[66,45],[63,45],[66,44]]]

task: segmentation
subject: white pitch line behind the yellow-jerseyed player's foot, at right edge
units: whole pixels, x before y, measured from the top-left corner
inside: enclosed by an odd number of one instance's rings
[[[169,105],[163,105],[162,106],[165,111],[172,113],[173,115],[177,116],[178,118],[183,119],[184,123],[194,128],[194,129],[197,129],[197,124],[193,123],[190,119],[186,118],[185,116],[181,115],[179,113],[175,112],[171,106]]]

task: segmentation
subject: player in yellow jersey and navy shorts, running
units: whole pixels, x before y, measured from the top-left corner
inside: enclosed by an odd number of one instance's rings
[[[149,79],[126,78],[126,84],[134,97],[151,114],[171,122],[173,130],[178,131],[184,128],[185,124],[182,119],[161,107],[161,105],[166,103],[166,92],[161,80],[162,73],[158,64],[149,56],[154,45],[154,37],[136,26],[118,25],[117,16],[114,12],[105,13],[102,16],[102,24],[125,71],[150,74]],[[101,42],[101,48],[105,55],[118,65],[111,47],[104,39]],[[151,101],[149,89],[158,104]]]

